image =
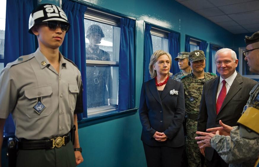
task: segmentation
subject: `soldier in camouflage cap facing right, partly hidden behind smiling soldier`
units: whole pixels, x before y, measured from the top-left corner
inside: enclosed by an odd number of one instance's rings
[[[190,52],[180,52],[178,53],[178,56],[174,58],[175,61],[178,61],[179,69],[182,70],[176,74],[173,75],[172,79],[175,79],[177,81],[181,81],[181,77],[188,75],[192,72],[192,69],[188,65]]]

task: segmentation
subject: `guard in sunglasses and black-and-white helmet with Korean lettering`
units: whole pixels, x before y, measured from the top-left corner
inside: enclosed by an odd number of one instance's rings
[[[74,146],[69,133],[73,125],[77,129],[77,113],[83,111],[81,74],[59,52],[69,27],[60,7],[37,6],[29,18],[29,33],[37,36],[39,48],[8,63],[1,72],[0,134],[11,113],[18,167],[71,167],[83,161],[78,131]]]

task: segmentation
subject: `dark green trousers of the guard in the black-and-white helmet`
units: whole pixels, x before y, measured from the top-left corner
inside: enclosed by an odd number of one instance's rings
[[[75,167],[72,142],[54,149],[18,150],[17,167]]]

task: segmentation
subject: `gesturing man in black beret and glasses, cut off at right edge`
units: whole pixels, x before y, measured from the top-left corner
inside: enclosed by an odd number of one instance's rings
[[[245,61],[251,72],[259,74],[259,31],[245,36]],[[196,132],[200,148],[212,147],[229,166],[255,166],[259,156],[259,82],[250,91],[250,98],[244,106],[243,114],[237,121],[237,127],[230,127],[220,121],[222,127],[210,128],[205,132]],[[215,133],[216,132],[216,133]],[[258,162],[257,162],[258,163]],[[258,164],[256,164],[257,166]]]

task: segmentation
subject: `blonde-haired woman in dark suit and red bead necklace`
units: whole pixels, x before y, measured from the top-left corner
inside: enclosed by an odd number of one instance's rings
[[[180,166],[185,114],[184,89],[181,82],[171,79],[172,58],[158,50],[150,58],[151,80],[141,89],[139,118],[141,140],[148,167]]]

